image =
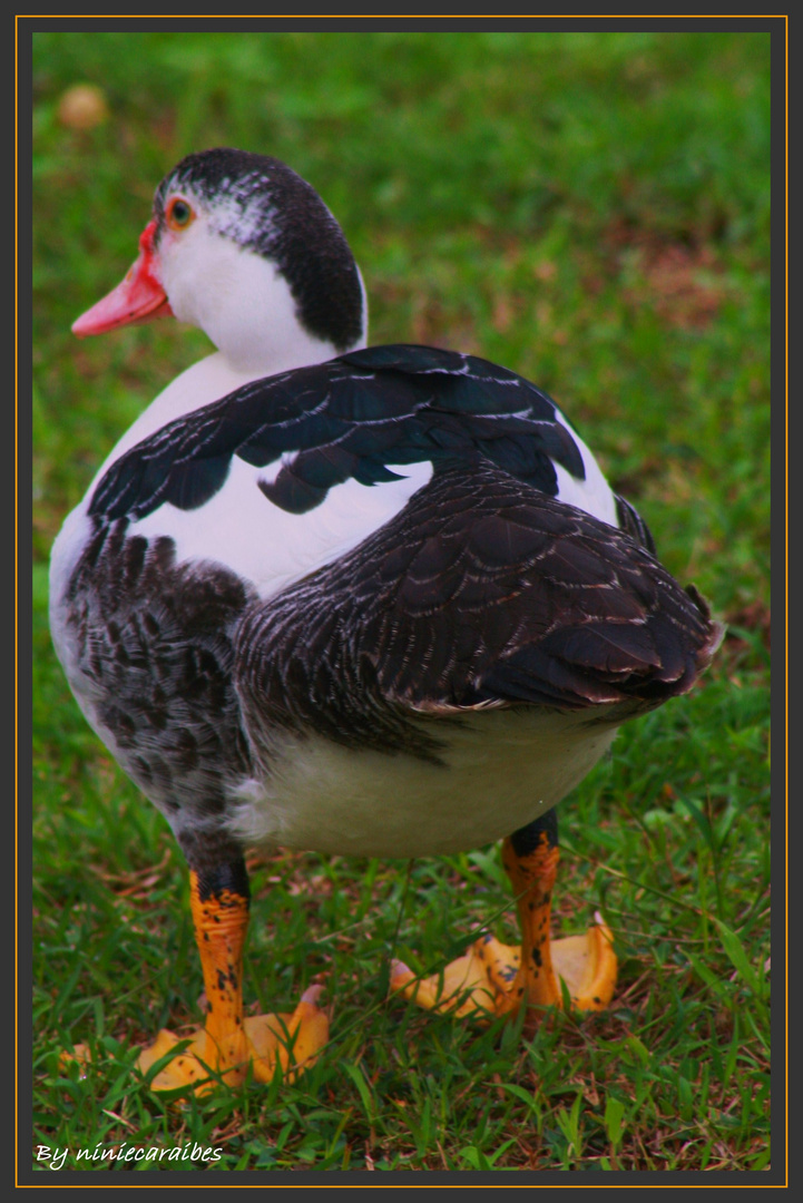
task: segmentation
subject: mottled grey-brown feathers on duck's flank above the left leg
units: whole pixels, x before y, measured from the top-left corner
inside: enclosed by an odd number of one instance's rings
[[[250,771],[232,636],[254,594],[222,567],[177,564],[171,539],[129,537],[126,526],[101,527],[85,549],[70,638],[95,725],[200,867],[198,841],[225,852],[228,793]]]

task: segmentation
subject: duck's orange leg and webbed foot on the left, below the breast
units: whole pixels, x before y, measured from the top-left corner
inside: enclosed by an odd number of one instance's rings
[[[189,1048],[178,1053],[154,1078],[154,1090],[176,1090],[197,1083],[214,1085],[214,1074],[230,1085],[252,1066],[257,1081],[269,1081],[276,1063],[298,1073],[328,1038],[328,1020],[317,1006],[320,986],[302,996],[292,1014],[245,1017],[243,949],[248,931],[249,883],[242,857],[214,867],[190,870],[190,905],[201,955],[208,1014]],[[139,1057],[147,1072],[180,1039],[162,1030]]]

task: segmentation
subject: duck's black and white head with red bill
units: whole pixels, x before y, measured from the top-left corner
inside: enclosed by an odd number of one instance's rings
[[[239,371],[281,371],[364,346],[365,294],[326,205],[278,159],[188,155],[156,189],[125,279],[79,337],[173,314]]]

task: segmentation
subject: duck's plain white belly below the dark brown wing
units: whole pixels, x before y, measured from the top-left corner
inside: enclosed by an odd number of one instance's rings
[[[232,830],[250,846],[340,855],[477,848],[559,802],[617,730],[535,709],[478,711],[459,727],[440,719],[428,729],[444,739],[444,765],[293,737],[266,780],[243,787]]]

